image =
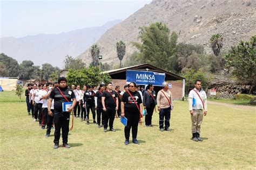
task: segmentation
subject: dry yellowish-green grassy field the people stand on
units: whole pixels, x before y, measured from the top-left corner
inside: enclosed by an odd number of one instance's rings
[[[153,128],[139,126],[140,145],[127,146],[119,120],[116,132],[104,133],[75,118],[71,148],[53,150],[53,132],[45,138],[46,130],[27,116],[26,103],[17,101],[14,91],[0,93],[1,169],[256,168],[255,111],[209,104],[201,126],[204,141],[194,142],[187,102],[174,101],[171,132],[159,131],[154,113]]]

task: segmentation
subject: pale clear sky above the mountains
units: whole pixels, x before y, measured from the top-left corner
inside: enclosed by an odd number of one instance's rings
[[[0,37],[58,34],[125,20],[152,0],[0,0]]]

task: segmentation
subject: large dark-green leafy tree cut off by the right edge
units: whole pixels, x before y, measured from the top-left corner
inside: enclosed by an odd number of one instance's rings
[[[241,41],[237,47],[232,46],[225,60],[227,68],[233,67],[237,79],[251,84],[252,90],[256,83],[256,36],[250,41]]]

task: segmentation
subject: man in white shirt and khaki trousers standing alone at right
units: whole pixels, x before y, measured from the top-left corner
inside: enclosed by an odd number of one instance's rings
[[[200,129],[203,115],[206,116],[207,114],[207,96],[201,86],[201,80],[196,80],[194,82],[194,89],[188,94],[188,110],[190,111],[192,121],[193,141],[203,141],[200,138]]]

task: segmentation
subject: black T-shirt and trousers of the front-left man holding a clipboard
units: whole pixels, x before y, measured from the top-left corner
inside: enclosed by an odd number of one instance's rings
[[[72,90],[68,87],[64,89],[59,88],[63,95],[71,101],[71,98],[76,98],[75,94]],[[69,119],[70,113],[62,111],[62,103],[67,102],[65,98],[60,94],[57,88],[54,88],[51,91],[50,98],[54,99],[54,125],[55,125],[55,132],[54,132],[54,143],[59,143],[60,137],[60,129],[62,129],[62,140],[63,143],[68,143],[68,133],[69,133]]]

